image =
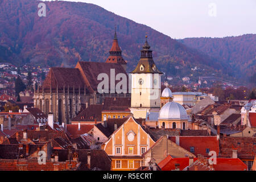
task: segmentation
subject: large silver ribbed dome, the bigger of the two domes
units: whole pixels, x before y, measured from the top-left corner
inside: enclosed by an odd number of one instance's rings
[[[159,119],[188,119],[187,111],[177,102],[168,102],[159,111]]]

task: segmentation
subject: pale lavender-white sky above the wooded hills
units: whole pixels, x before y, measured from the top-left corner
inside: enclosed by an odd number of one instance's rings
[[[174,39],[256,34],[256,0],[68,0],[93,3]]]

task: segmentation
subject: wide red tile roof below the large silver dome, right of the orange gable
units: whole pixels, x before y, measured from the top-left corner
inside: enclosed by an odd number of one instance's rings
[[[176,137],[170,139],[176,143]],[[194,147],[195,152],[192,153],[196,156],[198,154],[208,156],[207,148],[209,151],[216,151],[217,154],[220,151],[217,137],[179,137],[179,145],[187,151],[191,151],[191,147]]]

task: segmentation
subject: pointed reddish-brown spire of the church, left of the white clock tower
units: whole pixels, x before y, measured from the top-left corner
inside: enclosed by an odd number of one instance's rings
[[[112,44],[112,48],[109,51],[109,57],[106,60],[106,63],[118,63],[121,64],[123,69],[126,71],[127,63],[122,57],[122,51],[118,45],[118,39],[117,39],[117,31],[115,29],[115,35],[114,40]]]

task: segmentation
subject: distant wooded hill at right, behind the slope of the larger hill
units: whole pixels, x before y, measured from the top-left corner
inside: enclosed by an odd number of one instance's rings
[[[242,79],[255,77],[256,34],[226,38],[186,38],[178,41],[228,63],[233,70],[230,76],[242,76]]]

